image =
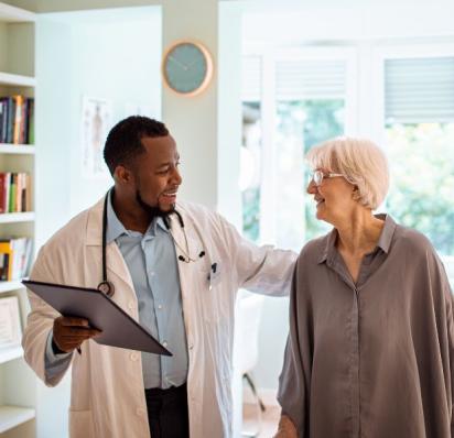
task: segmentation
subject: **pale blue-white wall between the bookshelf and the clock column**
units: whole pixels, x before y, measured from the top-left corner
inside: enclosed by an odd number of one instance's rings
[[[111,124],[134,107],[161,116],[159,7],[40,15],[36,28],[36,243],[93,205],[109,176],[82,175],[82,97],[107,98]],[[69,379],[37,391],[39,437],[67,436]]]

